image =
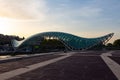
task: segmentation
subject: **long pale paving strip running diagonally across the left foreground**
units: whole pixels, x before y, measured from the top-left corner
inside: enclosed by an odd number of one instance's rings
[[[69,54],[66,54],[65,56],[62,56],[62,57],[58,57],[58,58],[54,58],[54,59],[51,59],[51,60],[48,60],[48,61],[44,61],[44,62],[33,64],[33,65],[30,65],[30,66],[26,66],[26,68],[15,69],[15,70],[12,70],[12,71],[9,71],[9,72],[2,73],[2,74],[0,74],[0,80],[6,80],[6,79],[9,79],[11,77],[29,72],[31,70],[35,70],[37,68],[47,66],[48,64],[51,64],[51,63],[57,62],[59,60],[65,59],[67,57],[70,57],[71,55],[72,55],[72,53],[69,53]]]

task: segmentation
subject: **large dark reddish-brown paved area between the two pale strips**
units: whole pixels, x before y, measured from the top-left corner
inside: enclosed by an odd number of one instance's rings
[[[100,55],[78,54],[8,80],[118,80]]]

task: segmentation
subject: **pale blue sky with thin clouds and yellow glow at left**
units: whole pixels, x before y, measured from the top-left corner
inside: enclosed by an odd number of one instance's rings
[[[0,34],[46,31],[87,38],[115,33],[113,42],[120,39],[120,0],[0,0]]]

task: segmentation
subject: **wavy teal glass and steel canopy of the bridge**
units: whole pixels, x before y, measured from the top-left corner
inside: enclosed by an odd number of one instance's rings
[[[44,38],[60,40],[66,47],[71,50],[83,50],[89,49],[100,43],[105,44],[112,38],[113,35],[114,33],[110,33],[98,38],[83,38],[64,32],[43,32],[27,38],[25,41],[18,45],[18,48],[22,46],[33,45],[36,43],[36,41],[41,42],[41,39]]]

